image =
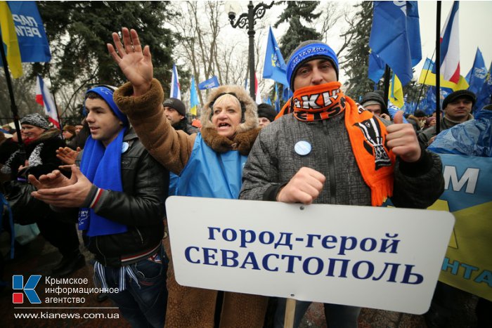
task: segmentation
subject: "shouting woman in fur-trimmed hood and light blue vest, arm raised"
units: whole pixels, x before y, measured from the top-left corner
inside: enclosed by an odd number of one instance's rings
[[[137,33],[122,29],[123,41],[113,33],[115,48],[108,45],[129,83],[115,92],[115,103],[127,114],[141,142],[155,159],[179,175],[177,195],[238,198],[242,166],[259,133],[257,107],[240,86],[220,86],[202,108],[202,129],[188,135],[175,131],[164,116],[164,93],[153,79],[150,50],[141,50]],[[222,176],[223,178],[218,178]],[[169,238],[164,240],[171,257]],[[267,298],[219,293],[183,287],[174,279],[172,261],[167,274],[165,327],[263,327]],[[222,305],[220,306],[220,304]],[[216,306],[219,304],[219,306]],[[221,313],[215,314],[217,309]]]

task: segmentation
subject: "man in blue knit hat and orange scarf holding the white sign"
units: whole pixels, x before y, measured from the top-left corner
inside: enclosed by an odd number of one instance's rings
[[[423,150],[402,114],[384,126],[340,89],[335,52],[305,41],[288,60],[294,96],[263,129],[242,173],[241,199],[425,209],[441,195],[441,160]],[[297,301],[294,327],[309,302]],[[361,308],[325,304],[329,327],[357,327]],[[275,327],[283,327],[280,299]]]

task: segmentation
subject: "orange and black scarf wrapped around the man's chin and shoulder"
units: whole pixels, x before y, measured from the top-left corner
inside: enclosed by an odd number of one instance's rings
[[[371,190],[372,205],[380,206],[393,194],[396,158],[386,145],[386,126],[373,113],[345,96],[340,86],[339,82],[330,82],[299,88],[276,119],[293,112],[299,121],[314,122],[345,112],[345,127],[358,169]]]

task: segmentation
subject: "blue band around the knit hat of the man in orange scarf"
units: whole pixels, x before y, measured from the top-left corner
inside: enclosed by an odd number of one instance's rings
[[[321,42],[306,44],[306,46],[303,46],[297,49],[295,53],[292,53],[292,55],[289,58],[289,63],[287,63],[287,81],[289,81],[290,89],[292,91],[294,90],[294,77],[297,67],[301,63],[303,63],[306,59],[312,57],[330,58],[333,64],[335,64],[334,68],[337,71],[337,78],[338,78],[338,59],[335,51],[333,51],[333,49],[330,48],[328,44],[323,44]]]

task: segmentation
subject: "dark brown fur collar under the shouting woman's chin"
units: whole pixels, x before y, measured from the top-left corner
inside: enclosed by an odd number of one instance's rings
[[[241,155],[247,156],[250,154],[251,147],[253,147],[254,140],[257,139],[260,130],[260,128],[256,128],[238,133],[234,136],[233,140],[219,135],[214,128],[203,128],[201,133],[205,143],[215,152],[238,150]]]

